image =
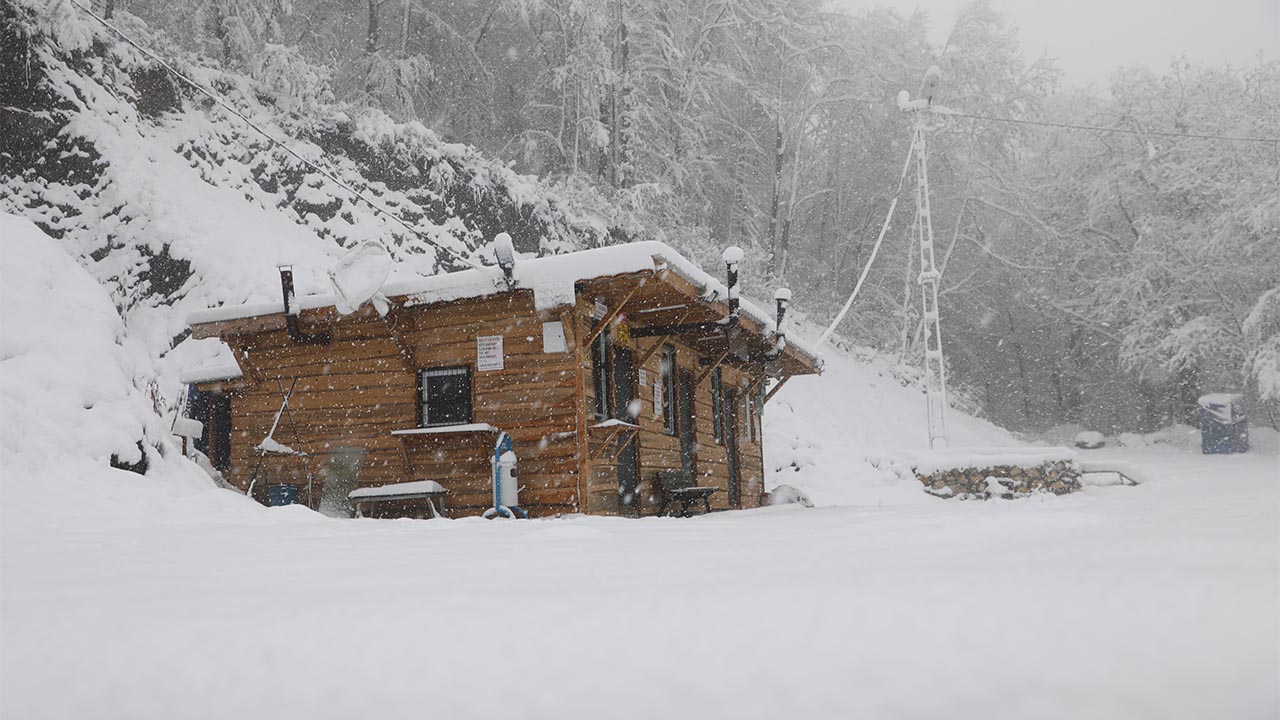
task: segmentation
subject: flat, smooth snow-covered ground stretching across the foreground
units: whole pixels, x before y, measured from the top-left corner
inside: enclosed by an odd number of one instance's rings
[[[0,715],[1275,717],[1276,459],[1102,452],[1152,482],[689,520],[10,515]]]

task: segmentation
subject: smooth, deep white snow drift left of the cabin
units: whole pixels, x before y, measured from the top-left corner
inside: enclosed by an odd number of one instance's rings
[[[52,528],[172,523],[247,506],[182,459],[145,388],[151,359],[106,292],[0,213],[0,521],[5,551]],[[140,446],[141,442],[141,446]],[[146,477],[109,465],[147,464]]]

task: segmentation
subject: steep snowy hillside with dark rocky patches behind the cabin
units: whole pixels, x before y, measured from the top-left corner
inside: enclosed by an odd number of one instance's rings
[[[294,265],[303,295],[328,288],[324,270],[362,240],[385,242],[413,275],[484,258],[503,231],[536,252],[609,232],[535,178],[419,123],[300,95],[305,65],[280,68],[276,92],[119,20],[410,232],[69,5],[5,0],[4,12],[0,210],[59,238],[152,357],[180,340],[192,310],[276,297],[278,264]]]

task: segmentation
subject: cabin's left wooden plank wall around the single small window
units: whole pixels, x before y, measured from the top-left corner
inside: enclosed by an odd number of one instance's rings
[[[303,502],[319,503],[330,451],[346,446],[365,451],[361,487],[434,479],[449,489],[454,516],[479,514],[492,503],[493,433],[392,434],[417,424],[419,369],[466,365],[472,421],[507,430],[516,443],[521,505],[534,515],[575,511],[577,368],[572,351],[543,352],[541,323],[532,293],[517,291],[398,309],[385,319],[343,318],[332,324],[329,345],[296,345],[283,329],[227,338],[247,352],[246,375],[256,379],[232,395],[228,477],[248,486],[253,447],[280,407],[276,378],[285,389],[296,379],[289,406],[298,437],[287,418],[274,437],[310,455],[315,483],[310,498],[303,488]],[[477,370],[477,336],[498,334],[504,368]],[[266,457],[259,483],[279,482],[305,482],[297,457]]]

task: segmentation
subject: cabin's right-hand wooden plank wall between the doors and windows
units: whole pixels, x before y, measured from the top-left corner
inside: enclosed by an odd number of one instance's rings
[[[590,313],[591,304],[585,299],[580,300],[576,316],[577,320],[577,333],[579,337],[586,337],[590,334]],[[625,343],[635,352],[635,359],[639,361],[646,352],[653,347],[654,343],[660,342],[662,338],[639,338]],[[668,341],[669,345],[676,348],[676,365],[677,368],[687,369],[692,373],[694,379],[700,378],[709,365],[701,365],[699,360],[705,355],[699,352],[695,346],[681,342],[678,340]],[[588,416],[588,425],[598,423],[591,413],[594,409],[595,391],[591,383],[591,354],[590,348],[584,351],[584,366],[582,373],[585,377],[584,383],[584,398],[582,407]],[[714,360],[714,357],[710,357]],[[654,352],[643,365],[645,374],[648,375],[648,383],[640,384],[639,370],[636,368],[636,396],[640,401],[640,416],[636,419],[636,424],[640,425],[637,430],[640,438],[639,447],[639,464],[640,464],[640,477],[639,477],[639,493],[640,503],[637,511],[641,515],[652,515],[658,511],[660,498],[654,487],[654,478],[659,470],[678,470],[681,469],[680,460],[680,437],[678,434],[668,434],[664,429],[663,416],[658,414],[654,409],[654,396],[653,386],[654,383],[662,382],[662,351]],[[753,418],[756,423],[753,432],[753,441],[748,441],[741,432],[742,413],[741,413],[741,392],[754,382],[758,375],[751,375],[737,368],[730,365],[722,365],[722,380],[726,388],[737,387],[739,388],[739,410],[736,413],[739,420],[739,477],[741,488],[741,505],[740,507],[758,507],[760,505],[762,496],[764,493],[764,454],[763,447],[759,441],[759,424],[758,419]],[[678,369],[677,369],[678,373]],[[728,502],[728,451],[723,443],[717,443],[713,434],[713,416],[712,416],[712,374],[707,373],[707,377],[694,388],[694,402],[695,402],[695,415],[694,415],[694,428],[695,428],[695,445],[698,447],[698,460],[695,466],[695,473],[698,477],[698,483],[703,486],[714,486],[721,488],[719,492],[712,496],[712,509],[714,510],[727,510],[730,507]],[[591,429],[589,430],[590,448],[588,459],[588,483],[584,495],[586,496],[586,510],[593,514],[614,514],[622,511],[618,503],[618,474],[617,474],[617,447],[616,439],[609,442],[612,433],[607,429]],[[612,436],[616,438],[616,436]]]

